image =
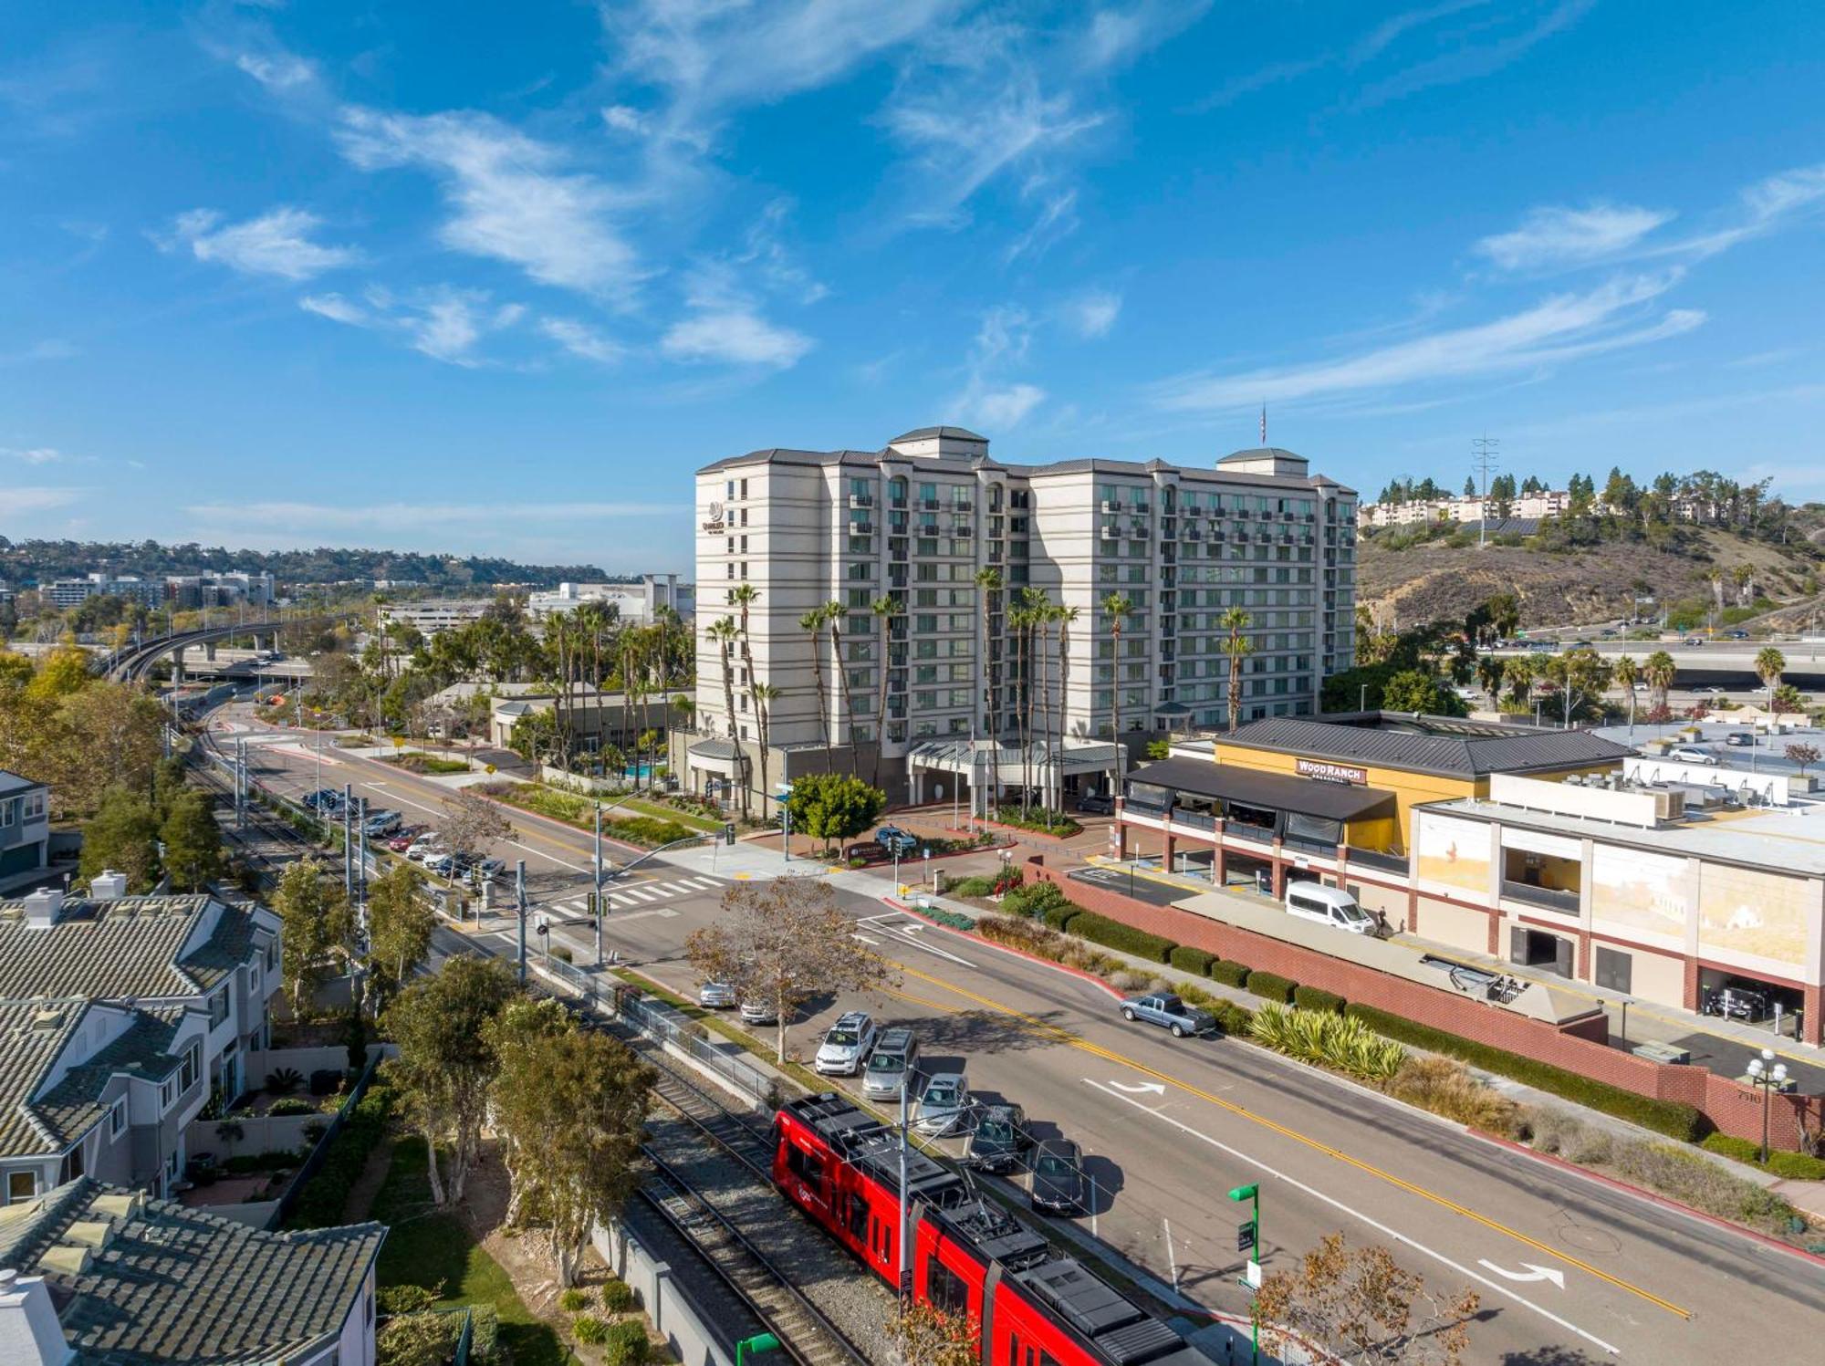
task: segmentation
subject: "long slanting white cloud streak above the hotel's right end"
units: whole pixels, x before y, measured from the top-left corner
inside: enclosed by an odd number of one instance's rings
[[[1679,272],[1624,276],[1586,294],[1557,294],[1489,323],[1433,332],[1341,360],[1239,374],[1181,376],[1155,385],[1153,400],[1166,409],[1237,409],[1259,402],[1531,369],[1644,345],[1690,332],[1705,321],[1705,314],[1692,309],[1674,309],[1657,320],[1642,318],[1646,305],[1677,279]]]

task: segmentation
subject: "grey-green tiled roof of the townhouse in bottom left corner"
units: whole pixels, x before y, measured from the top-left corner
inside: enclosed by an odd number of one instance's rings
[[[106,1224],[106,1245],[78,1273],[44,1264],[73,1224]],[[252,1366],[339,1333],[385,1236],[380,1224],[266,1233],[80,1178],[0,1209],[0,1267],[51,1282],[82,1362]]]

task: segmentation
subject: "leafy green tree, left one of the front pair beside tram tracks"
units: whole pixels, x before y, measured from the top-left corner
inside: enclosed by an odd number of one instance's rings
[[[513,968],[500,959],[445,959],[442,970],[407,986],[381,1015],[400,1056],[387,1063],[412,1127],[425,1140],[431,1198],[462,1200],[482,1151],[482,1125],[498,1059],[489,1024],[515,999]],[[449,1145],[449,1183],[438,1172],[438,1145]]]

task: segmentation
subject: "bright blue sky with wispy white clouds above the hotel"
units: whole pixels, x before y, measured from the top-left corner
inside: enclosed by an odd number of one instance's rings
[[[0,13],[0,533],[690,568],[688,473],[1469,440],[1825,497],[1783,2]]]

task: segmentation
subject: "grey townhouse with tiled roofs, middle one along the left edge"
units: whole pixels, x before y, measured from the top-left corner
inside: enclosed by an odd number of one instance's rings
[[[184,1125],[246,1088],[281,986],[279,919],[214,897],[0,900],[0,1194],[91,1174],[166,1194]]]

